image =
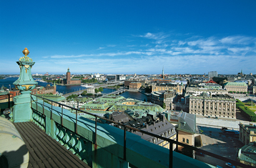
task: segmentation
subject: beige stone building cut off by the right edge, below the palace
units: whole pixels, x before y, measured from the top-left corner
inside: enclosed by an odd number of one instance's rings
[[[239,124],[239,140],[244,144],[249,144],[251,142],[256,142],[256,125],[250,124],[245,125],[240,123]]]

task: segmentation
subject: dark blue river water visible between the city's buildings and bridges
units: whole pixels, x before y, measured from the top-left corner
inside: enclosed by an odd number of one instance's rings
[[[6,79],[0,79],[0,86],[6,87],[6,88],[10,88],[9,84],[11,84],[11,88],[14,88],[14,81],[16,81],[18,78],[6,78]],[[37,81],[38,82],[38,86],[41,87],[46,87],[47,82],[42,82],[42,81]],[[52,85],[52,84],[50,84]],[[85,87],[81,87],[80,85],[74,85],[74,86],[61,86],[61,85],[57,85],[56,86],[56,92],[59,92],[61,94],[68,94],[70,92],[76,92],[79,90],[83,90],[86,89]],[[109,94],[111,92],[114,92],[114,89],[103,89],[102,94]],[[132,99],[138,99],[138,100],[142,100],[144,101],[144,99],[146,99],[147,101],[147,96],[140,93],[140,92],[124,92],[122,94],[120,94],[122,97],[125,98],[132,98]]]

